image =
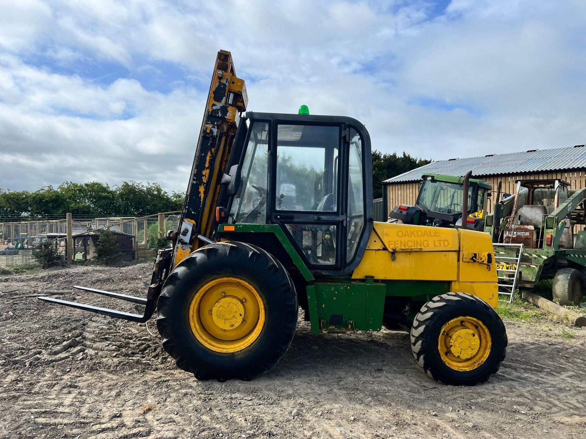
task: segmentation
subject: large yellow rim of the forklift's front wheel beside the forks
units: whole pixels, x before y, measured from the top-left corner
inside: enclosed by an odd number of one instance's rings
[[[265,310],[258,291],[246,280],[218,277],[196,291],[189,325],[202,345],[214,352],[247,348],[263,330]]]

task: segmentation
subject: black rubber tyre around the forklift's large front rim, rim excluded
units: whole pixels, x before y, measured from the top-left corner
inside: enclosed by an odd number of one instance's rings
[[[265,324],[258,338],[249,347],[229,354],[204,347],[189,325],[193,296],[220,276],[251,283],[265,307]],[[159,296],[157,313],[163,348],[179,368],[199,380],[251,380],[270,370],[287,352],[295,334],[298,303],[287,270],[270,253],[243,242],[217,242],[193,252],[173,269]]]

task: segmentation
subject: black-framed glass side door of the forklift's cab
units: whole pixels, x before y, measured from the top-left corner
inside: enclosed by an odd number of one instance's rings
[[[310,269],[338,271],[345,260],[344,124],[274,121],[271,220]],[[342,153],[340,153],[342,152]]]

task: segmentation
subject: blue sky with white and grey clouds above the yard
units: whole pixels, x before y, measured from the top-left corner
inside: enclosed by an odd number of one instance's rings
[[[216,52],[254,111],[428,159],[584,143],[581,0],[0,0],[0,188],[185,190]]]

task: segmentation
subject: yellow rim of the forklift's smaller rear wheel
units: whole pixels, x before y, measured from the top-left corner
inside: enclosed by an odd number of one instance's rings
[[[440,356],[445,365],[455,371],[479,368],[488,358],[491,347],[490,331],[478,318],[453,318],[441,328]]]

